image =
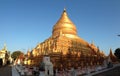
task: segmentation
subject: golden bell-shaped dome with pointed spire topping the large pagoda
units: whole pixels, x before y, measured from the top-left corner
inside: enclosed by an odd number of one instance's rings
[[[53,27],[52,35],[58,36],[61,31],[62,34],[77,35],[76,27],[73,24],[73,22],[69,19],[65,9],[60,19]]]

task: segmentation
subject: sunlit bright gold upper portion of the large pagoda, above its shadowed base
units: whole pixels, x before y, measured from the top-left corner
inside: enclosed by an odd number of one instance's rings
[[[89,44],[77,35],[77,29],[68,18],[64,9],[60,19],[53,27],[52,36],[44,42],[38,44],[32,50],[33,56],[62,52],[64,55],[68,51],[82,51],[85,55],[91,53],[91,50],[97,52],[94,44]]]

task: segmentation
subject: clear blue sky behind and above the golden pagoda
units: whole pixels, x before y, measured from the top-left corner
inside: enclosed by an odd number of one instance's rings
[[[120,0],[0,0],[0,49],[34,48],[52,35],[64,7],[81,38],[105,54],[120,47]]]

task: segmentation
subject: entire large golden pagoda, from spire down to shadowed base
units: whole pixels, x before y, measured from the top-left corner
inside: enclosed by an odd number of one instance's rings
[[[77,35],[76,26],[64,9],[53,26],[52,36],[32,49],[31,57],[34,65],[38,65],[44,55],[49,55],[55,68],[84,67],[102,64],[100,59],[104,56],[98,50],[93,43],[89,44]]]

